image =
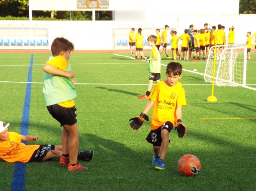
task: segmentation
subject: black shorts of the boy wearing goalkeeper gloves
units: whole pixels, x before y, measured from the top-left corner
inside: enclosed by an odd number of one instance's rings
[[[162,137],[161,137],[161,131],[162,129],[166,129],[169,133],[173,129],[173,123],[170,121],[167,121],[163,123],[162,126],[160,126],[157,129],[151,130],[148,134],[148,137],[146,140],[148,143],[151,143],[153,146],[161,146],[162,144]],[[170,143],[170,140],[169,140]]]

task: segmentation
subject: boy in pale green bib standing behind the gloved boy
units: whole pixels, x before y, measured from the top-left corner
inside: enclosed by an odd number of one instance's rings
[[[148,72],[149,72],[149,83],[148,90],[145,95],[139,95],[141,99],[148,99],[153,86],[153,81],[158,83],[161,78],[161,55],[157,50],[155,43],[157,42],[157,37],[154,35],[148,36],[148,45],[152,47],[150,51],[150,56],[145,57],[145,61],[148,61]]]

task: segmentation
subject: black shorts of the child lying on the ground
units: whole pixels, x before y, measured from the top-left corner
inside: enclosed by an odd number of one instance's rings
[[[55,145],[40,145],[39,148],[34,151],[28,162],[42,162],[47,152],[54,149]]]

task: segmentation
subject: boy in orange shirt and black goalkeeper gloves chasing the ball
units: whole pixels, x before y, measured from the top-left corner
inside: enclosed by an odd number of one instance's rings
[[[153,145],[154,156],[152,164],[156,170],[164,170],[164,159],[167,153],[170,131],[176,126],[179,137],[184,137],[186,127],[182,124],[182,106],[186,105],[185,91],[178,82],[182,78],[180,63],[171,62],[167,65],[166,81],[158,82],[144,110],[130,123],[131,128],[138,130],[144,120],[148,121],[147,113],[153,107],[151,131],[146,140]]]

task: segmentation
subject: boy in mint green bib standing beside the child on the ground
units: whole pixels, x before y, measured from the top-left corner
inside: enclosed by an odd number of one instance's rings
[[[63,154],[60,164],[67,165],[68,171],[87,170],[77,162],[77,152],[79,146],[77,109],[73,99],[77,96],[73,84],[75,73],[71,71],[68,60],[74,44],[65,38],[56,38],[51,45],[52,56],[43,65],[44,85],[43,96],[46,107],[54,119],[56,119],[62,129]]]

